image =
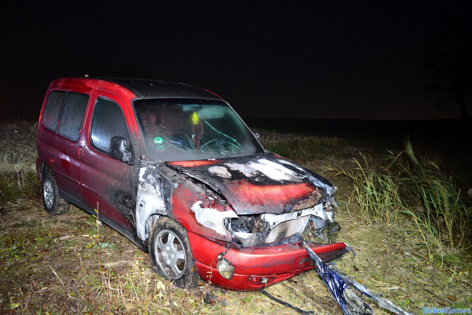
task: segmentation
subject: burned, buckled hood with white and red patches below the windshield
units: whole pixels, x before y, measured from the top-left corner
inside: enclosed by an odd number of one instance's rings
[[[336,191],[325,178],[274,153],[166,164],[218,191],[240,215],[303,210]]]

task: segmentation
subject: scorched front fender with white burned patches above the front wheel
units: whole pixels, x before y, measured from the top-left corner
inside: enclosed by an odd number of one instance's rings
[[[136,234],[145,241],[151,216],[167,216],[187,231],[231,242],[223,220],[236,212],[211,190],[203,190],[163,163],[141,161],[136,198]]]

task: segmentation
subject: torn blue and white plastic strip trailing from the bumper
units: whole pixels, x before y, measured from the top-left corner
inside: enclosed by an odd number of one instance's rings
[[[305,245],[304,242],[303,242],[303,245]],[[325,263],[321,261],[321,258],[318,257],[318,255],[315,254],[311,250],[311,248],[308,247],[307,245],[305,245],[305,249],[308,255],[310,256],[310,258],[312,259],[313,263],[315,263],[316,269],[318,270],[318,273],[320,274],[321,279],[323,280],[329,292],[331,293],[333,298],[336,300],[338,306],[341,308],[341,310],[343,311],[345,315],[365,314],[365,313],[353,311],[353,307],[346,300],[346,297],[343,293],[346,289],[351,289],[350,287],[353,287],[357,291],[361,292],[362,294],[376,301],[380,308],[387,309],[390,312],[397,315],[411,315],[410,313],[404,311],[403,309],[396,306],[389,300],[377,296],[376,294],[372,293],[369,289],[367,289],[362,284],[342,274],[340,271],[336,269],[336,267],[327,266]],[[363,302],[361,303],[365,307],[364,309],[368,313],[371,313],[371,309],[369,305]]]

